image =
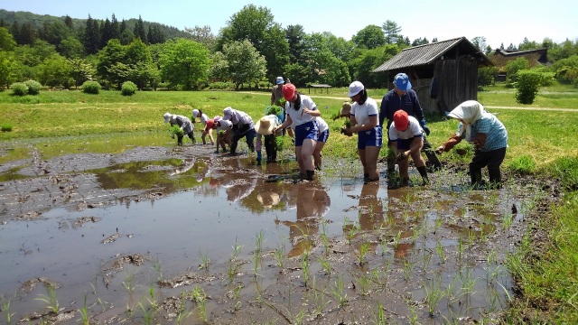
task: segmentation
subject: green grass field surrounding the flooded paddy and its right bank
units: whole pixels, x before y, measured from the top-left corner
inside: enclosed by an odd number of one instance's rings
[[[24,98],[13,97],[9,91],[0,92],[0,125],[6,130],[0,133],[0,148],[11,148],[3,151],[0,163],[26,158],[29,153],[25,144],[29,142],[50,143],[51,149],[46,149],[51,150],[49,155],[74,152],[87,142],[101,144],[98,150],[109,152],[125,150],[126,144],[151,145],[151,137],[156,139],[155,144],[173,144],[168,127],[163,124],[165,112],[191,116],[194,107],[208,116],[216,116],[222,115],[223,108],[234,107],[256,120],[269,103],[269,92],[260,92],[262,94],[139,91],[135,96],[123,97],[117,91],[87,95],[71,90],[42,91],[39,96]],[[369,95],[376,99],[384,93],[384,89],[369,90]],[[534,258],[534,254],[530,254],[534,244],[527,242],[511,257],[510,271],[524,296],[513,304],[505,321],[572,323],[578,320],[578,236],[575,231],[578,195],[574,192],[578,189],[578,112],[545,111],[540,107],[578,110],[578,89],[559,85],[543,88],[534,104],[524,106],[535,110],[500,109],[520,107],[514,94],[514,89],[504,87],[489,87],[479,93],[480,101],[495,107],[489,111],[508,129],[509,148],[504,167],[512,174],[524,172],[556,178],[566,194],[563,206],[553,207],[547,222],[536,225],[548,228],[550,242],[545,255]],[[323,153],[355,159],[357,137],[340,135],[343,120],[331,120],[343,102],[335,98],[346,98],[346,89],[331,88],[329,94],[318,92],[311,96],[331,126],[330,142]],[[432,129],[428,140],[437,145],[455,131],[457,122],[443,116],[428,116],[428,125]],[[447,153],[442,159],[464,163],[468,157]],[[534,312],[535,316],[530,319],[517,316],[528,310],[525,315]]]

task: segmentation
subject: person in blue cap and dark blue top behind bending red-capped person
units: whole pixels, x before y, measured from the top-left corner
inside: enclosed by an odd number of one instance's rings
[[[387,129],[393,122],[394,114],[398,110],[406,111],[408,116],[414,116],[419,125],[422,126],[425,135],[430,135],[430,129],[425,124],[424,110],[419,104],[417,94],[412,89],[412,84],[409,77],[405,73],[398,73],[394,78],[394,88],[389,90],[381,100],[381,107],[379,110],[379,125],[383,127],[384,120],[387,118]],[[442,168],[442,163],[433,152],[432,145],[427,141],[424,135],[424,146],[422,150],[427,156],[427,160],[435,169]],[[389,150],[387,152],[387,173],[391,174],[395,170],[396,160],[392,153],[395,144],[389,141]]]

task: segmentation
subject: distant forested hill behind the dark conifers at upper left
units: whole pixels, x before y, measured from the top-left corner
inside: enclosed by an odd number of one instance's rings
[[[114,13],[113,13],[114,14]],[[7,11],[5,9],[0,9],[0,20],[4,21],[4,23],[6,25],[12,25],[14,23],[14,21],[18,22],[19,25],[23,25],[23,23],[30,23],[35,29],[42,29],[42,26],[44,25],[44,23],[51,23],[54,20],[60,20],[61,22],[64,22],[64,19],[66,18],[66,15],[63,15],[61,17],[57,17],[57,16],[52,16],[50,14],[33,14],[30,12],[13,12],[13,11]],[[89,19],[89,17],[87,16],[85,19],[79,19],[79,18],[72,18],[72,23],[74,25],[74,29],[75,30],[79,30],[79,28],[85,28],[87,25],[87,20]],[[95,18],[92,18],[95,19]],[[112,19],[112,14],[110,14],[110,17],[108,17],[108,20]],[[104,23],[104,20],[102,19],[95,19],[98,21],[98,23]],[[122,22],[122,19],[118,19],[118,23]],[[131,18],[128,20],[125,20],[126,23],[126,28],[128,28],[129,30],[134,30],[135,29],[135,25],[136,22],[138,22],[138,18]],[[163,32],[165,39],[172,39],[175,37],[186,37],[186,33],[184,31],[179,30],[176,27],[172,27],[172,26],[167,26],[163,23],[152,23],[152,22],[146,22],[143,20],[144,23],[144,31],[148,31],[148,26],[157,26],[161,32]]]

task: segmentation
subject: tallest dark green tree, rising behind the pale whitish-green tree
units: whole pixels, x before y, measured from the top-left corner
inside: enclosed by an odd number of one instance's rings
[[[224,50],[228,42],[243,40],[251,42],[256,51],[265,57],[268,79],[283,74],[284,66],[289,62],[289,44],[269,9],[246,5],[233,14],[228,26],[221,30],[218,51]]]

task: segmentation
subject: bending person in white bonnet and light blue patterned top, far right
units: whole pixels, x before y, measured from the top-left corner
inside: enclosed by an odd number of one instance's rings
[[[488,166],[490,185],[501,182],[499,165],[504,161],[508,147],[508,131],[498,117],[484,110],[475,100],[468,100],[453,108],[448,114],[460,121],[458,132],[440,145],[436,152],[450,151],[461,139],[473,144],[475,153],[470,163],[471,185],[481,186],[481,169]]]

